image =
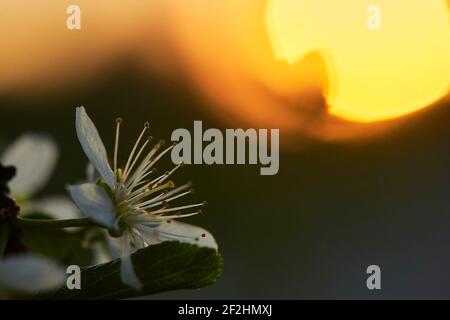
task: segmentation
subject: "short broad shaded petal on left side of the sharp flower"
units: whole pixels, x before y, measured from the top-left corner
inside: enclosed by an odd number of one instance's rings
[[[116,208],[108,193],[95,183],[67,186],[77,207],[98,224],[111,228],[116,219]]]

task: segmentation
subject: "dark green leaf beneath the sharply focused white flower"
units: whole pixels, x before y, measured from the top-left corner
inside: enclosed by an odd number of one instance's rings
[[[196,289],[213,284],[222,272],[222,258],[211,248],[180,242],[163,242],[132,255],[142,283],[136,291],[120,279],[120,260],[83,268],[81,289],[66,287],[40,299],[124,299],[169,290]]]

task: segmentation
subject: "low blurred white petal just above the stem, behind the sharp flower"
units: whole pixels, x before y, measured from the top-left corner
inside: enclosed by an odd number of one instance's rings
[[[21,207],[21,215],[29,213],[45,213],[53,219],[74,219],[81,218],[83,214],[73,204],[73,202],[65,196],[50,196],[42,200],[33,201]]]

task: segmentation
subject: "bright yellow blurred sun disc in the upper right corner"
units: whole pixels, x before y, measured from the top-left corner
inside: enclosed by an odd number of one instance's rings
[[[449,92],[443,0],[269,0],[266,22],[278,59],[294,64],[310,52],[322,55],[332,115],[392,119]]]

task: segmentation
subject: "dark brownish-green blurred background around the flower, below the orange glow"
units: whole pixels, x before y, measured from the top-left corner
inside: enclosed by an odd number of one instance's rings
[[[112,151],[117,116],[128,148],[146,120],[153,136],[166,139],[193,120],[224,129],[204,103],[188,86],[116,68],[88,88],[0,95],[1,143],[24,131],[53,135],[61,158],[45,192],[64,193],[86,165],[76,106],[87,108]],[[293,151],[281,137],[278,175],[226,165],[177,173],[208,201],[205,215],[186,221],[215,235],[223,276],[206,289],[150,298],[450,298],[449,105],[364,140]],[[381,267],[381,291],[366,288],[372,264]]]

